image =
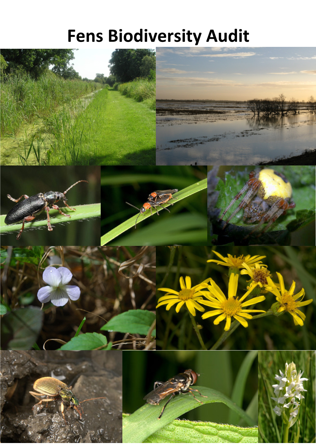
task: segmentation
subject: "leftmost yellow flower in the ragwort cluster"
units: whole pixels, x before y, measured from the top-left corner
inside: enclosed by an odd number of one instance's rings
[[[204,308],[197,302],[201,302],[201,296],[206,297],[206,294],[209,294],[208,291],[200,291],[208,286],[206,284],[206,281],[208,280],[209,279],[191,288],[191,278],[186,276],[184,283],[183,277],[180,277],[181,291],[179,293],[174,289],[158,288],[158,291],[165,291],[167,294],[165,294],[164,297],[160,297],[156,308],[161,305],[167,305],[166,310],[170,310],[170,308],[177,303],[177,313],[184,304],[193,316],[195,316],[195,308],[199,311],[205,311]]]

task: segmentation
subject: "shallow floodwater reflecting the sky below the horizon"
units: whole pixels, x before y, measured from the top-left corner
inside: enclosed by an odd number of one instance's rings
[[[245,103],[156,103],[156,165],[253,165],[315,147],[316,116],[304,110],[258,118]]]

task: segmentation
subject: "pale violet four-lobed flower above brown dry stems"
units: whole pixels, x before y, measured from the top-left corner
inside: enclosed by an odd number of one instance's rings
[[[55,306],[66,305],[69,299],[78,300],[80,288],[69,286],[67,283],[72,279],[72,273],[67,267],[46,267],[43,272],[43,280],[50,286],[44,286],[38,290],[37,297],[42,303],[51,301]]]

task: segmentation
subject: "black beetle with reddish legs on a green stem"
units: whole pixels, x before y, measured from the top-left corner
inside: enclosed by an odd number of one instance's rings
[[[71,185],[66,191],[63,193],[60,193],[59,191],[47,191],[47,193],[38,193],[34,194],[33,196],[27,196],[26,194],[22,194],[20,198],[13,199],[10,194],[7,194],[7,197],[13,201],[13,202],[19,202],[21,198],[25,198],[25,201],[20,202],[15,207],[13,207],[9,212],[8,215],[6,215],[4,222],[5,224],[16,224],[19,222],[23,222],[20,232],[17,234],[17,240],[20,239],[21,233],[24,229],[24,223],[30,222],[35,219],[35,216],[41,213],[43,210],[47,213],[47,227],[48,230],[53,230],[51,227],[51,221],[49,217],[49,211],[50,207],[55,208],[55,210],[58,210],[61,215],[67,216],[67,218],[71,218],[70,215],[66,215],[66,213],[63,213],[57,205],[55,205],[55,202],[63,201],[66,207],[70,208],[70,210],[76,211],[75,208],[69,207],[67,204],[67,198],[65,194],[67,191],[69,191],[72,187],[79,184],[79,182],[87,182],[88,181],[78,181],[75,184]]]

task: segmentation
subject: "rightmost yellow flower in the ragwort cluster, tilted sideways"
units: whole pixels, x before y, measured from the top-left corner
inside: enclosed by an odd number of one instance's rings
[[[299,293],[293,295],[295,289],[295,281],[293,280],[291,288],[287,291],[287,289],[284,288],[284,280],[282,275],[277,272],[277,276],[280,282],[279,289],[273,282],[273,280],[271,280],[269,277],[267,278],[268,286],[266,286],[266,289],[274,294],[277,298],[277,301],[281,303],[281,306],[278,309],[278,313],[280,313],[281,311],[288,311],[293,316],[295,325],[300,325],[302,327],[304,325],[306,316],[304,313],[302,313],[302,311],[298,310],[298,308],[300,306],[305,306],[309,303],[312,303],[313,299],[305,300],[305,302],[302,302],[305,295],[304,289],[302,288]],[[301,301],[296,302],[296,299],[298,299],[299,297],[302,297]]]

